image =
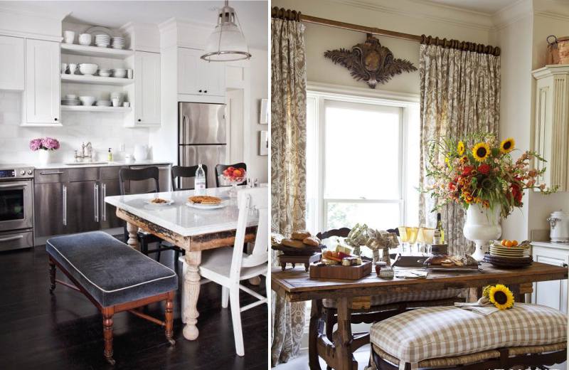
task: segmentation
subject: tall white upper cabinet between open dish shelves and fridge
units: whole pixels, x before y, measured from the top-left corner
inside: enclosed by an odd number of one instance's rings
[[[160,125],[160,54],[134,53],[134,127]]]

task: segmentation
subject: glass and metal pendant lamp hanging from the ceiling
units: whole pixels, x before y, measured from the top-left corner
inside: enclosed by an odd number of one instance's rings
[[[225,0],[225,6],[218,13],[216,29],[208,38],[206,50],[201,56],[209,62],[228,62],[251,58],[245,35],[239,24],[235,9]]]

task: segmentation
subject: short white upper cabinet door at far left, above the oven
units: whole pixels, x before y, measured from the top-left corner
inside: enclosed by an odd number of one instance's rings
[[[0,90],[23,91],[23,49],[23,38],[0,36]]]

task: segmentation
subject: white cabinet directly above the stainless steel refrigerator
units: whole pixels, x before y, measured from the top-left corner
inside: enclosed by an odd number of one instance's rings
[[[225,96],[224,63],[207,62],[203,51],[178,48],[178,93],[202,96]]]

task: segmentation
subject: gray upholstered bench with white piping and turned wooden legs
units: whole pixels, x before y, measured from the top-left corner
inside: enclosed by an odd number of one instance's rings
[[[174,292],[178,277],[173,270],[121,243],[107,233],[93,231],[50,238],[46,243],[50,264],[50,292],[55,282],[83,292],[101,311],[105,359],[112,359],[112,315],[129,311],[166,327],[166,339],[172,339]],[[55,266],[75,286],[55,279]],[[166,301],[164,322],[135,311],[137,307]]]

